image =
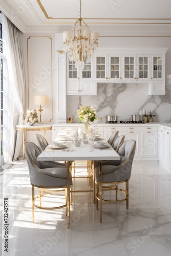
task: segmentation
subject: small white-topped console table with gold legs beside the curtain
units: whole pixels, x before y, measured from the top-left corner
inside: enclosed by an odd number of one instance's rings
[[[26,124],[19,124],[16,126],[16,130],[22,131],[22,143],[23,143],[23,159],[25,157],[25,139],[24,139],[24,132],[25,131],[44,131],[44,137],[46,139],[46,131],[52,130],[52,125],[44,125],[44,124],[37,124],[37,125],[26,125]]]

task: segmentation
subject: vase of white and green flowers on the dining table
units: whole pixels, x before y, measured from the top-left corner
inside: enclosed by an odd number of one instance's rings
[[[89,124],[96,119],[97,113],[93,106],[81,106],[81,108],[77,110],[77,114],[79,116],[79,122],[83,120],[84,132],[87,134],[89,130]]]

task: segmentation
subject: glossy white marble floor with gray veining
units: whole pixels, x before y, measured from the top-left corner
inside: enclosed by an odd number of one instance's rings
[[[78,175],[83,172],[80,169]],[[92,193],[72,193],[70,229],[64,208],[54,211],[36,208],[32,223],[26,161],[14,162],[1,172],[0,182],[1,205],[4,201],[8,203],[8,223],[3,215],[4,206],[1,212],[2,256],[171,255],[171,174],[159,165],[133,165],[129,209],[126,210],[125,202],[103,204],[101,224]],[[89,188],[89,182],[78,178],[73,187]],[[47,196],[45,204],[56,199],[62,201],[63,195],[52,199]]]

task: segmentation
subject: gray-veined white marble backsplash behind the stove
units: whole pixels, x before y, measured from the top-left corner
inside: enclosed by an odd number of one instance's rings
[[[78,109],[79,96],[67,96],[67,116],[72,115],[74,122],[78,121],[75,113]],[[166,86],[165,95],[148,95],[148,84],[98,83],[97,95],[81,96],[82,105],[91,105],[97,111],[97,117],[114,114],[120,120],[131,120],[132,114],[145,108],[147,114],[155,114],[154,122],[171,122],[171,87]],[[75,113],[75,114],[74,114]]]

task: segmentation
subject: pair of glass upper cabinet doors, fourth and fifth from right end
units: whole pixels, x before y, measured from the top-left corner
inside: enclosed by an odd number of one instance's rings
[[[94,79],[119,81],[121,71],[121,55],[96,54],[94,58]]]

